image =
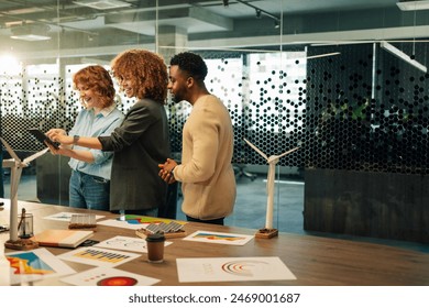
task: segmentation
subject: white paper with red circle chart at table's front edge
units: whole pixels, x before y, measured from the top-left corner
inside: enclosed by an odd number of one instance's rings
[[[91,270],[64,277],[63,283],[75,286],[151,286],[157,284],[160,279],[151,278],[143,275],[129,273],[125,271],[94,267]]]

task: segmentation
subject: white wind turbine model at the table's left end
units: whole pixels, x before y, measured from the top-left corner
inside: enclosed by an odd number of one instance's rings
[[[22,168],[29,166],[30,162],[45,154],[50,148],[46,147],[29,157],[21,161],[15,152],[10,147],[4,139],[0,138],[6,150],[12,158],[3,161],[3,167],[11,169],[10,178],[10,239],[4,243],[4,246],[13,250],[31,250],[37,248],[37,242],[33,242],[29,239],[18,238],[18,185],[20,184]]]

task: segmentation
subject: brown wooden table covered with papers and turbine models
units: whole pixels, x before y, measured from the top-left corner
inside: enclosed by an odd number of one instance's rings
[[[0,207],[0,223],[9,223],[9,200]],[[67,229],[67,222],[42,219],[43,217],[70,211],[88,210],[68,207],[19,201],[19,211],[25,208],[34,215],[34,232],[44,229]],[[110,212],[90,211],[117,218]],[[188,234],[198,231],[231,232],[255,234],[256,230],[189,222],[185,227]],[[91,238],[103,241],[116,235],[136,237],[135,231],[99,224]],[[9,233],[0,233],[0,243],[9,239]],[[294,280],[268,282],[219,282],[204,285],[290,285],[290,286],[428,286],[429,255],[422,252],[392,248],[381,244],[354,242],[311,235],[279,233],[273,239],[252,239],[242,246],[210,244],[178,239],[168,239],[173,244],[165,248],[165,262],[151,264],[146,254],[124,263],[117,268],[161,279],[156,285],[201,285],[201,283],[178,282],[176,258],[178,257],[239,257],[239,256],[278,256],[295,274]],[[53,254],[62,254],[69,249],[47,248]],[[9,250],[6,250],[10,252]],[[66,262],[77,272],[92,266]],[[64,285],[58,278],[33,283],[34,285]]]

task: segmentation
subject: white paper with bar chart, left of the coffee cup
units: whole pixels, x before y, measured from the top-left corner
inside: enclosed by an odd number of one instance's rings
[[[138,258],[140,254],[105,250],[99,248],[81,248],[58,255],[65,261],[90,264],[95,266],[114,267],[131,260]]]

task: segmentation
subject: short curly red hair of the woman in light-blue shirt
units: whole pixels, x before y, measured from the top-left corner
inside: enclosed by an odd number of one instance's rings
[[[77,85],[92,89],[101,102],[101,108],[109,107],[114,102],[113,80],[109,72],[100,65],[90,65],[78,70],[73,76],[73,84],[75,90],[77,90]],[[80,99],[80,102],[86,107],[84,99]]]

